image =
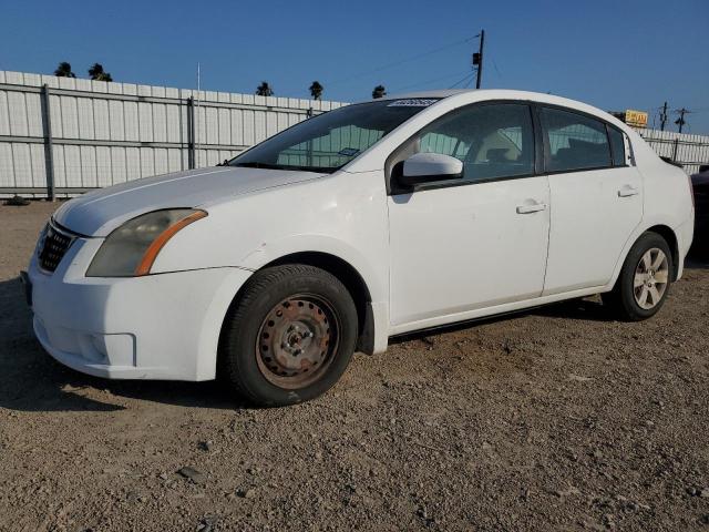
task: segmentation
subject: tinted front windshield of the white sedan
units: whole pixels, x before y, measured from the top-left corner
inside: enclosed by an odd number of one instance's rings
[[[229,166],[335,172],[435,99],[359,103],[300,122],[229,161]]]

